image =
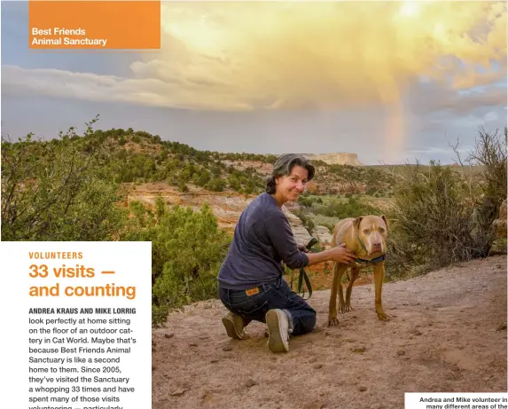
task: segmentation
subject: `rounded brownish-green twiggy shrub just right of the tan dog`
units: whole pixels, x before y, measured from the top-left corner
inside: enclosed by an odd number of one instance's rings
[[[451,168],[408,165],[389,215],[388,270],[397,276],[487,256],[493,236],[488,224],[477,223],[477,207],[471,185]]]

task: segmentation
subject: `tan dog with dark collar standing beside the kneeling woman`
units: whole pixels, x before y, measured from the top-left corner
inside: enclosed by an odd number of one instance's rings
[[[339,311],[351,311],[351,291],[358,278],[360,270],[374,266],[375,307],[378,318],[390,319],[381,303],[381,291],[385,277],[384,256],[387,253],[387,219],[385,216],[348,217],[335,224],[332,236],[332,246],[346,244],[356,257],[356,263],[333,263],[332,294],[328,306],[328,326],[339,325],[337,319],[337,290],[339,290]],[[351,268],[349,284],[346,289],[346,300],[342,293],[342,274]]]

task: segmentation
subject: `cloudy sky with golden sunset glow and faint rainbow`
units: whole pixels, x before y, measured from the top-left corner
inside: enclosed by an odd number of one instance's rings
[[[197,149],[452,161],[506,125],[505,2],[171,3],[156,53],[35,52],[2,2],[2,131],[100,114]]]

